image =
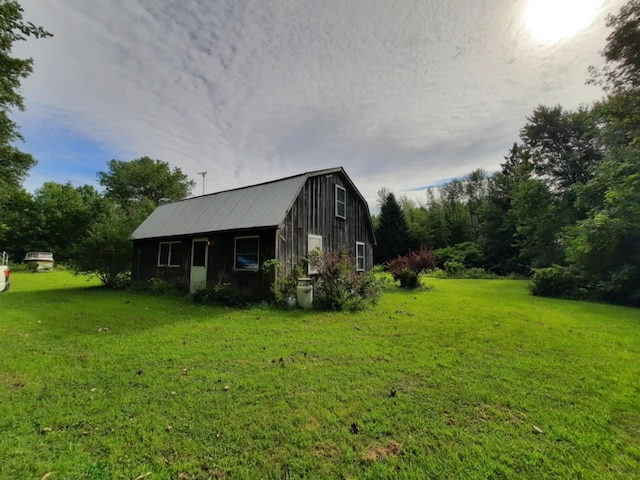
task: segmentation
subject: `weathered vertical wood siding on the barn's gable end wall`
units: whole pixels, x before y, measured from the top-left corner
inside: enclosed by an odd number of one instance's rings
[[[336,185],[346,189],[346,218],[335,211]],[[325,252],[346,251],[355,258],[356,242],[365,244],[365,269],[373,267],[374,238],[369,209],[341,174],[309,178],[277,232],[277,256],[288,276],[296,265],[307,272],[308,236],[321,235]],[[355,261],[355,260],[354,260]],[[354,265],[355,268],[355,265]]]

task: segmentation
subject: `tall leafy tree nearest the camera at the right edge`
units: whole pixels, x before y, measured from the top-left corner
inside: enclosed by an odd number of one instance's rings
[[[566,255],[588,295],[640,305],[640,0],[607,25],[599,80],[608,96],[595,106],[605,159],[577,190],[588,214],[567,230]]]

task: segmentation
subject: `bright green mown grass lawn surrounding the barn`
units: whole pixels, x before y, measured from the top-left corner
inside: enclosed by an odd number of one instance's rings
[[[640,309],[515,280],[357,314],[11,281],[1,479],[640,478]]]

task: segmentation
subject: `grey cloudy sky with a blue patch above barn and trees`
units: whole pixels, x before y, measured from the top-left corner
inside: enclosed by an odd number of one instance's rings
[[[377,191],[496,170],[538,104],[576,108],[623,0],[21,0],[54,34],[14,118],[25,182],[96,185],[116,158],[212,193],[343,166]],[[536,7],[537,10],[536,10]],[[537,13],[536,13],[537,12]]]

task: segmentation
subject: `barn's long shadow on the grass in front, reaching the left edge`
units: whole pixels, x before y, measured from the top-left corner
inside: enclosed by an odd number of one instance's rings
[[[315,312],[280,310],[265,305],[224,307],[200,304],[182,294],[116,290],[101,285],[70,285],[15,291],[3,298],[3,317],[18,329],[38,325],[54,335],[133,335],[181,325],[226,331],[255,328],[256,321],[299,322]],[[201,327],[197,327],[199,330]],[[235,327],[233,327],[235,328]]]

